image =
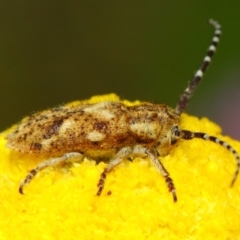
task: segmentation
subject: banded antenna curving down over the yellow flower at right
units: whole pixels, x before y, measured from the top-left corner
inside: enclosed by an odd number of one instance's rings
[[[233,176],[230,186],[232,187],[234,185],[234,183],[238,177],[238,173],[240,171],[240,157],[239,157],[237,151],[232,146],[230,146],[227,142],[224,142],[217,137],[209,136],[208,134],[201,133],[201,132],[191,132],[191,131],[187,131],[187,130],[181,130],[180,138],[185,139],[185,140],[191,140],[193,138],[201,138],[203,140],[209,140],[209,141],[220,144],[221,146],[225,147],[228,151],[230,151],[234,155],[236,162],[237,162],[236,171],[234,173],[234,176]]]

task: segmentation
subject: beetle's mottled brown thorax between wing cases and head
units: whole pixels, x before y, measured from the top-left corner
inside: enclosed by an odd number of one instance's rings
[[[129,128],[138,144],[165,148],[171,145],[172,128],[179,116],[163,104],[142,103],[129,108]]]

